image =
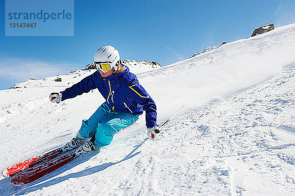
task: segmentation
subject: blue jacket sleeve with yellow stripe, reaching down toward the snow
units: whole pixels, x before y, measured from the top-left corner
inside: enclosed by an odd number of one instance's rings
[[[133,100],[142,105],[146,111],[146,125],[148,128],[158,126],[157,121],[157,107],[153,99],[148,95],[146,89],[139,83],[128,85],[132,92]]]

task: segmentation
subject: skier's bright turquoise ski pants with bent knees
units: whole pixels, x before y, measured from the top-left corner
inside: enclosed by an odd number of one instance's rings
[[[82,126],[77,137],[89,140],[95,136],[94,146],[96,148],[106,146],[111,143],[116,133],[135,123],[138,118],[139,115],[132,115],[125,112],[113,112],[108,107],[107,102],[105,102],[88,120],[82,121]]]

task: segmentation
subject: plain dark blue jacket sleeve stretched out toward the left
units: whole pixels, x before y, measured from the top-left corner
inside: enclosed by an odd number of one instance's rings
[[[96,88],[95,84],[96,72],[92,75],[84,78],[79,83],[72,85],[69,88],[66,88],[64,91],[61,91],[61,101],[69,98],[74,98],[77,95],[82,95],[84,92],[89,92],[91,89]]]

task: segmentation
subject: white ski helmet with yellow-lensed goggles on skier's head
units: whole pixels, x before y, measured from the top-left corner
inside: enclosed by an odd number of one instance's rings
[[[113,46],[103,46],[94,55],[94,64],[99,71],[107,72],[112,68],[117,71],[116,63],[120,60],[119,52]]]

